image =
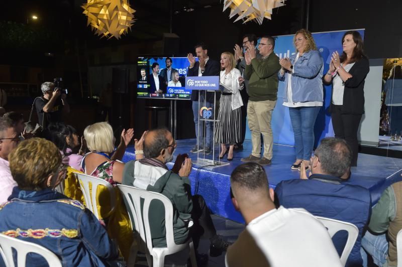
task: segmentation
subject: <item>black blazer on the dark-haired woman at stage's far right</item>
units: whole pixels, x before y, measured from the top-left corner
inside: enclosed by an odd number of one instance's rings
[[[350,68],[349,73],[353,76],[345,82],[345,90],[343,91],[343,104],[341,112],[343,114],[356,114],[360,115],[364,113],[364,79],[367,73],[370,71],[370,64],[368,58],[363,57],[357,61],[352,68]],[[323,77],[324,80],[324,77]],[[332,83],[332,81],[331,81]],[[326,83],[324,81],[324,84]],[[334,89],[332,89],[334,93]],[[332,110],[332,99],[330,105],[330,111]]]

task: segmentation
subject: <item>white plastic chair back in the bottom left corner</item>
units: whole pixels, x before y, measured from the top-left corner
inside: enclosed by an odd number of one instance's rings
[[[13,258],[13,249],[17,250],[17,265],[18,267],[26,266],[27,254],[30,252],[37,253],[43,256],[48,262],[49,266],[62,267],[60,259],[49,249],[32,243],[11,237],[5,234],[0,234],[0,254],[2,255],[7,267],[15,267]]]

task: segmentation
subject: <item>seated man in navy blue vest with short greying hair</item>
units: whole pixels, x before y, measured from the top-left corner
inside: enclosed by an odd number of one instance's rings
[[[275,193],[280,205],[286,208],[305,208],[316,216],[353,223],[359,235],[346,266],[361,266],[361,237],[368,223],[371,207],[370,192],[361,186],[345,183],[342,176],[349,173],[352,153],[342,139],[325,138],[310,160],[311,176],[306,167],[300,168],[300,179],[280,182]],[[347,239],[346,233],[337,233],[335,247],[341,254]]]

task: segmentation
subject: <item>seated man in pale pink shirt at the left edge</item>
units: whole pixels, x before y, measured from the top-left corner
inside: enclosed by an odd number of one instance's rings
[[[9,154],[20,142],[19,134],[10,121],[0,118],[0,204],[6,202],[17,186],[10,171]]]

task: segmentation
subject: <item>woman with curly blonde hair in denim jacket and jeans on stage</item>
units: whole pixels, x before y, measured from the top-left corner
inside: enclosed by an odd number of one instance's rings
[[[314,124],[323,106],[323,59],[317,51],[312,34],[305,30],[293,38],[296,54],[280,59],[279,80],[285,81],[283,105],[289,107],[294,133],[296,161],[292,170],[300,169],[302,162],[309,166],[314,147]]]

